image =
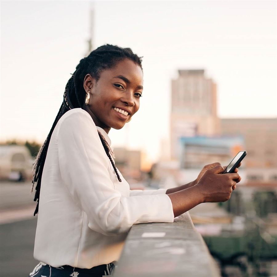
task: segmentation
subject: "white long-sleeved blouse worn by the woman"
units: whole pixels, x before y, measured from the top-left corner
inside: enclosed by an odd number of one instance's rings
[[[165,189],[130,190],[81,108],[67,111],[50,139],[39,199],[34,258],[53,267],[116,262],[133,224],[173,222]]]

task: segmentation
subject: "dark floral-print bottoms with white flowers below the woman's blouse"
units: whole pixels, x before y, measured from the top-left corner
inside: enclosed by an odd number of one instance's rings
[[[113,263],[101,264],[90,269],[68,265],[51,267],[49,264],[40,262],[29,277],[102,277],[112,275],[114,267]]]

